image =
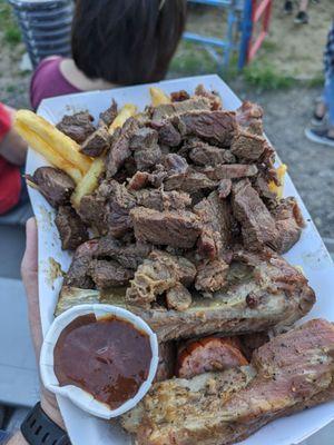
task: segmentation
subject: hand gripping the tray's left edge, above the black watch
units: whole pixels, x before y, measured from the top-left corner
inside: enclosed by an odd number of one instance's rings
[[[31,330],[32,343],[35,347],[37,363],[39,363],[40,348],[42,344],[41,323],[39,314],[38,299],[38,236],[35,218],[27,221],[27,244],[21,264],[21,275],[27,294],[28,315]],[[57,399],[41,386],[41,407],[45,413],[65,429],[63,421],[57,404]]]

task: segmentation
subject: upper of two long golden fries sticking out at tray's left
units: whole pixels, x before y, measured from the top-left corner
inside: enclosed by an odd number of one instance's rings
[[[77,167],[82,174],[86,174],[91,166],[92,160],[79,152],[80,146],[58,130],[53,125],[42,117],[29,110],[19,110],[16,113],[14,126],[24,125],[41,139],[43,139],[53,151],[57,151],[65,160]],[[33,147],[32,147],[33,148]]]

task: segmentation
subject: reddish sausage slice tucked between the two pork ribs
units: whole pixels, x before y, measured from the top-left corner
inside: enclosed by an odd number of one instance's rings
[[[225,370],[248,365],[237,337],[205,337],[180,346],[176,375],[191,378],[212,370]]]

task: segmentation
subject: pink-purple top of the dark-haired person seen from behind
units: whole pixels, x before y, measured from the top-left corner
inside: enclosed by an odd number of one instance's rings
[[[60,56],[42,60],[32,75],[30,82],[30,103],[36,110],[42,99],[80,92],[60,71]]]

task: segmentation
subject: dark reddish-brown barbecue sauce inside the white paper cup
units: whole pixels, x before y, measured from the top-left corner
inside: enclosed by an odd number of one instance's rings
[[[60,386],[79,386],[116,409],[147,379],[151,356],[149,336],[131,323],[88,314],[60,334],[53,368]]]

